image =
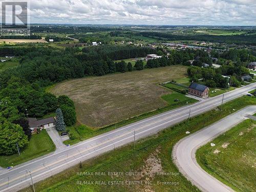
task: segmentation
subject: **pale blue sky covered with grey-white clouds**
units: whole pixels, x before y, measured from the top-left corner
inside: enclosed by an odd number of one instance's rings
[[[256,25],[256,0],[31,0],[29,10],[38,24]]]

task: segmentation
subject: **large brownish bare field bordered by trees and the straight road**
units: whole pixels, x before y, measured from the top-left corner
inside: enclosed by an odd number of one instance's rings
[[[58,83],[50,92],[73,99],[80,123],[101,127],[166,106],[161,96],[171,92],[158,84],[186,77],[186,71],[169,66],[85,77]]]

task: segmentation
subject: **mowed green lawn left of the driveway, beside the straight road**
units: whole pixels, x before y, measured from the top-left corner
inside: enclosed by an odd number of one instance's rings
[[[42,130],[39,134],[31,136],[29,143],[21,149],[21,154],[14,154],[11,156],[0,156],[0,166],[8,167],[14,166],[31,159],[46,155],[55,150],[55,145],[46,132]]]

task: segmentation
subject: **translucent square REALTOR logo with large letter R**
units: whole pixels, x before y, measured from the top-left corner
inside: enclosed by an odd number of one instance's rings
[[[29,3],[25,1],[1,2],[1,36],[29,36]]]

